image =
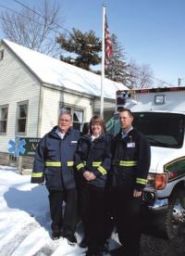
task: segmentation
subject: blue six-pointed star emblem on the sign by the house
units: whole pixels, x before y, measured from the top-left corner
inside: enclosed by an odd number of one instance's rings
[[[26,141],[25,139],[19,140],[19,136],[15,136],[15,141],[10,139],[8,144],[10,145],[8,152],[14,154],[15,157],[19,157],[19,153],[23,155],[26,151],[26,149],[23,147],[26,145]]]

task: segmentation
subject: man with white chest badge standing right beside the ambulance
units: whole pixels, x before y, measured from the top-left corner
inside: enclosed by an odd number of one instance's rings
[[[146,185],[151,150],[146,138],[132,127],[129,109],[118,115],[120,132],[113,140],[113,211],[118,238],[123,246],[119,254],[140,255],[142,190]]]

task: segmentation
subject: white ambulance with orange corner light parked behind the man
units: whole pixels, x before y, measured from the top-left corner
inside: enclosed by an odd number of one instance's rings
[[[107,132],[118,133],[119,109],[132,111],[152,151],[143,205],[168,238],[176,237],[185,224],[185,87],[117,91],[116,100]]]

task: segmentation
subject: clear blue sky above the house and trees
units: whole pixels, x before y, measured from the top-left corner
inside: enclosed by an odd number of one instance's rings
[[[53,0],[49,0],[53,1]],[[36,0],[19,0],[30,6]],[[185,1],[184,0],[56,0],[60,2],[62,26],[71,31],[93,30],[102,38],[103,3],[109,30],[125,47],[126,57],[150,65],[156,79],[185,84]],[[20,8],[14,0],[0,5]],[[0,10],[3,8],[0,6]],[[0,31],[0,38],[3,38]],[[156,82],[157,83],[157,82]]]

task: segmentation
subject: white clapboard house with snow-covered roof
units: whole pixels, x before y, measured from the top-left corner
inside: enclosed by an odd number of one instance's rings
[[[104,80],[105,119],[121,83]],[[68,109],[80,129],[100,112],[101,76],[7,40],[0,44],[0,153],[15,135],[42,137]],[[0,162],[1,164],[1,162]]]

